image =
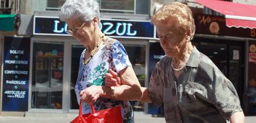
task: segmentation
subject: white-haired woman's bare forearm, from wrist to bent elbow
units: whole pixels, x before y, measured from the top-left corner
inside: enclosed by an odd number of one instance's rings
[[[105,98],[114,98],[116,100],[140,100],[142,97],[142,92],[140,87],[134,85],[131,87],[130,85],[120,85],[118,87],[114,87],[114,91],[107,86],[101,86],[102,92],[100,93],[101,97]]]

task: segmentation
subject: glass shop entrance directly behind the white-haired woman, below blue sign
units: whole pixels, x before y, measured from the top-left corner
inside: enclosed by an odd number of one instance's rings
[[[146,79],[146,41],[121,41],[124,45],[127,54],[129,55],[130,63],[134,68],[135,74],[139,79],[140,85],[145,86]],[[77,81],[77,75],[79,70],[80,54],[85,49],[81,44],[72,44],[71,48],[71,76],[70,76],[70,109],[79,109],[77,104],[77,97],[75,95],[75,82]],[[134,111],[143,111],[144,104],[139,101],[130,101]]]

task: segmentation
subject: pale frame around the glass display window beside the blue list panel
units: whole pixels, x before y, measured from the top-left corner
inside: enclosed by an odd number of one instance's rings
[[[62,78],[62,109],[40,109],[32,108],[32,71],[33,71],[33,43],[35,41],[42,42],[63,42],[63,78]],[[28,91],[28,112],[40,113],[69,113],[70,107],[70,67],[71,66],[71,44],[79,41],[70,36],[34,36],[30,42],[30,74],[29,74],[29,91]]]

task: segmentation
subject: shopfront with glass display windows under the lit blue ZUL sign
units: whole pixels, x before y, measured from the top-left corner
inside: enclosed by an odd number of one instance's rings
[[[106,36],[124,44],[140,84],[147,86],[149,42],[155,39],[155,28],[150,21],[103,18],[100,28]],[[28,112],[72,113],[79,108],[74,86],[84,47],[66,30],[66,23],[56,16],[34,17]],[[135,111],[144,111],[143,103],[130,103]]]

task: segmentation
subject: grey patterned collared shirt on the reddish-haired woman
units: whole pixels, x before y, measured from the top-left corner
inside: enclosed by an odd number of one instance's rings
[[[164,104],[166,122],[229,122],[242,111],[234,85],[195,47],[178,79],[171,61],[164,56],[156,63],[148,87],[153,105]]]

